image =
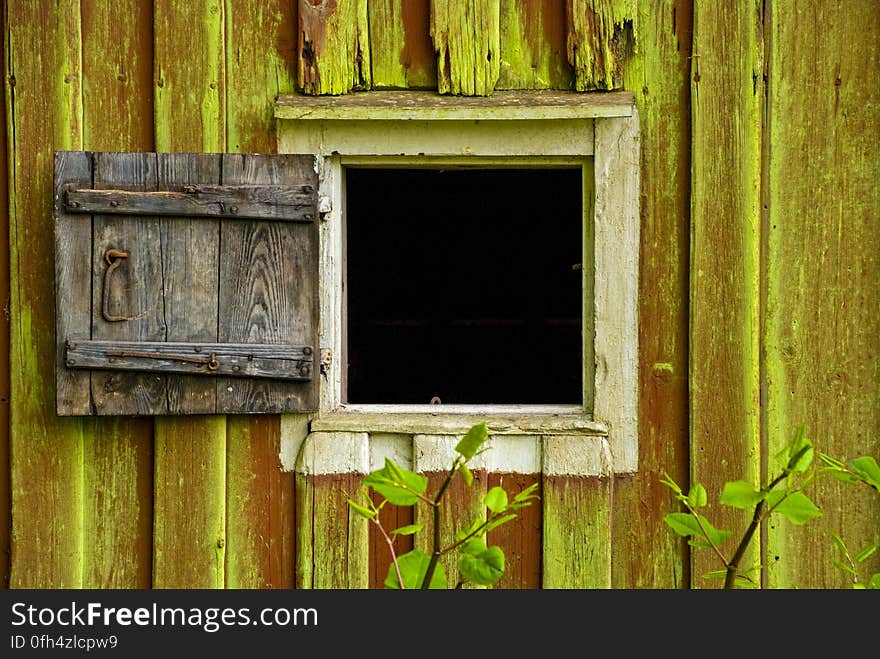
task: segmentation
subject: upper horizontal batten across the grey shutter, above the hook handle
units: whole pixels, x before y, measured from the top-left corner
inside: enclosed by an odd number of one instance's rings
[[[312,222],[312,186],[185,185],[179,191],[67,190],[69,213],[183,215]]]

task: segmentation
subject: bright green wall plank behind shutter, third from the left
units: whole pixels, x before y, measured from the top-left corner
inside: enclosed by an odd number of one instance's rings
[[[226,148],[224,5],[156,0],[156,149]],[[186,57],[182,57],[186,53]],[[153,584],[222,588],[226,545],[226,418],[155,419]]]

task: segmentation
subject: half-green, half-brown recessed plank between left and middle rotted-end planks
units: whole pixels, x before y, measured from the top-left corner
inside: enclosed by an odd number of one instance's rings
[[[429,0],[371,0],[372,89],[432,89],[437,86]]]

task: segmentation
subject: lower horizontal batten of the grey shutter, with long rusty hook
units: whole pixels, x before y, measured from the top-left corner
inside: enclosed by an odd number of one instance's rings
[[[67,341],[68,368],[312,379],[311,346],[156,341]]]

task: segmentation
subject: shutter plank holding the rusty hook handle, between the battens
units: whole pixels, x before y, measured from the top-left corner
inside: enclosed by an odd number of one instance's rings
[[[156,188],[156,156],[148,153],[94,154],[96,188]],[[166,336],[159,225],[147,216],[96,215],[92,246],[92,336],[96,340],[161,341]],[[130,320],[108,322],[102,316],[105,254],[124,250],[110,275],[107,305]],[[162,414],[166,410],[165,376],[93,373],[92,400],[100,415]]]

